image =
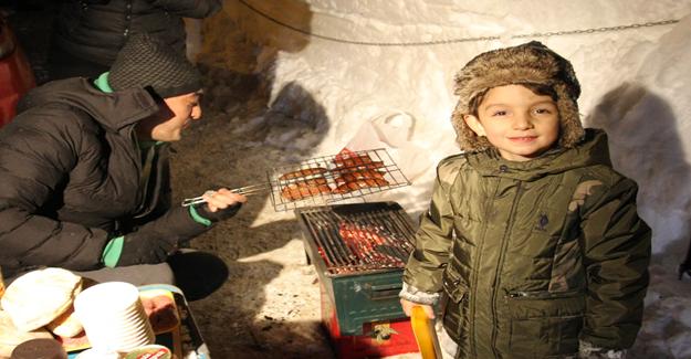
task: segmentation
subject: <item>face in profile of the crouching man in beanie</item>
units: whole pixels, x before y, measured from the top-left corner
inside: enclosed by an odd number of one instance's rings
[[[180,140],[182,130],[192,120],[201,118],[200,97],[201,93],[197,92],[164,98],[164,104],[156,115],[137,124],[137,138],[156,141]]]

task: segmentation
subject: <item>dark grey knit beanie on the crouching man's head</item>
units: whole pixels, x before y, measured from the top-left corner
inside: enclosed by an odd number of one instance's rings
[[[201,76],[187,59],[147,33],[130,36],[108,73],[114,91],[153,87],[163,97],[201,89]]]

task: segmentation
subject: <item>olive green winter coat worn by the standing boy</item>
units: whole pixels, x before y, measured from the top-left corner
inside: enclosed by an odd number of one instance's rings
[[[578,339],[628,348],[650,257],[636,192],[599,130],[526,162],[494,150],[449,157],[404,281],[446,293],[459,358],[561,358]]]

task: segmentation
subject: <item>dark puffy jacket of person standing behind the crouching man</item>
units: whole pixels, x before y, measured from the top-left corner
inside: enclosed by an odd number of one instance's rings
[[[182,18],[202,19],[221,9],[220,0],[70,0],[56,19],[60,49],[111,65],[127,36],[148,32],[185,53]]]

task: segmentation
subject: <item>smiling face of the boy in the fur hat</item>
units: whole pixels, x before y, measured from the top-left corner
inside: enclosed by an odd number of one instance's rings
[[[478,117],[465,115],[464,119],[511,161],[531,160],[559,138],[556,103],[521,85],[491,88],[478,106]]]

